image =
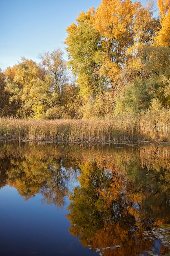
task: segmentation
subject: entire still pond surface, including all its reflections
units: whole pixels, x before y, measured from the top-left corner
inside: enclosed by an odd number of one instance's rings
[[[0,256],[170,255],[170,146],[0,143]]]

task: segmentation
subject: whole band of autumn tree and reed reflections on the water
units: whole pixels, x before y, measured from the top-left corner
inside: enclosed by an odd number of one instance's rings
[[[168,147],[3,144],[0,158],[0,184],[15,186],[25,199],[41,193],[43,202],[62,207],[71,191],[71,234],[84,246],[121,246],[105,256],[150,248],[142,232],[170,222]]]

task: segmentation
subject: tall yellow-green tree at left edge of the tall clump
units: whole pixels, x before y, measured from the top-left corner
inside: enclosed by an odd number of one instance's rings
[[[68,54],[68,65],[79,86],[82,102],[93,101],[97,94],[102,94],[108,85],[107,79],[101,74],[102,55],[100,35],[91,23],[93,9],[79,14],[77,24],[67,28],[68,37],[65,40]]]

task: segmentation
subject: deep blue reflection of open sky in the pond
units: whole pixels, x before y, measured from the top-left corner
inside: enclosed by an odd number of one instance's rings
[[[0,255],[93,255],[68,232],[68,199],[63,209],[41,201],[40,194],[24,201],[14,188],[0,189]]]

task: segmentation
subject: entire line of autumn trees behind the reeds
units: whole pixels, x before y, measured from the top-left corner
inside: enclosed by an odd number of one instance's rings
[[[170,1],[102,0],[67,28],[63,52],[0,72],[0,115],[112,118],[170,105]],[[70,71],[68,72],[68,67]]]

